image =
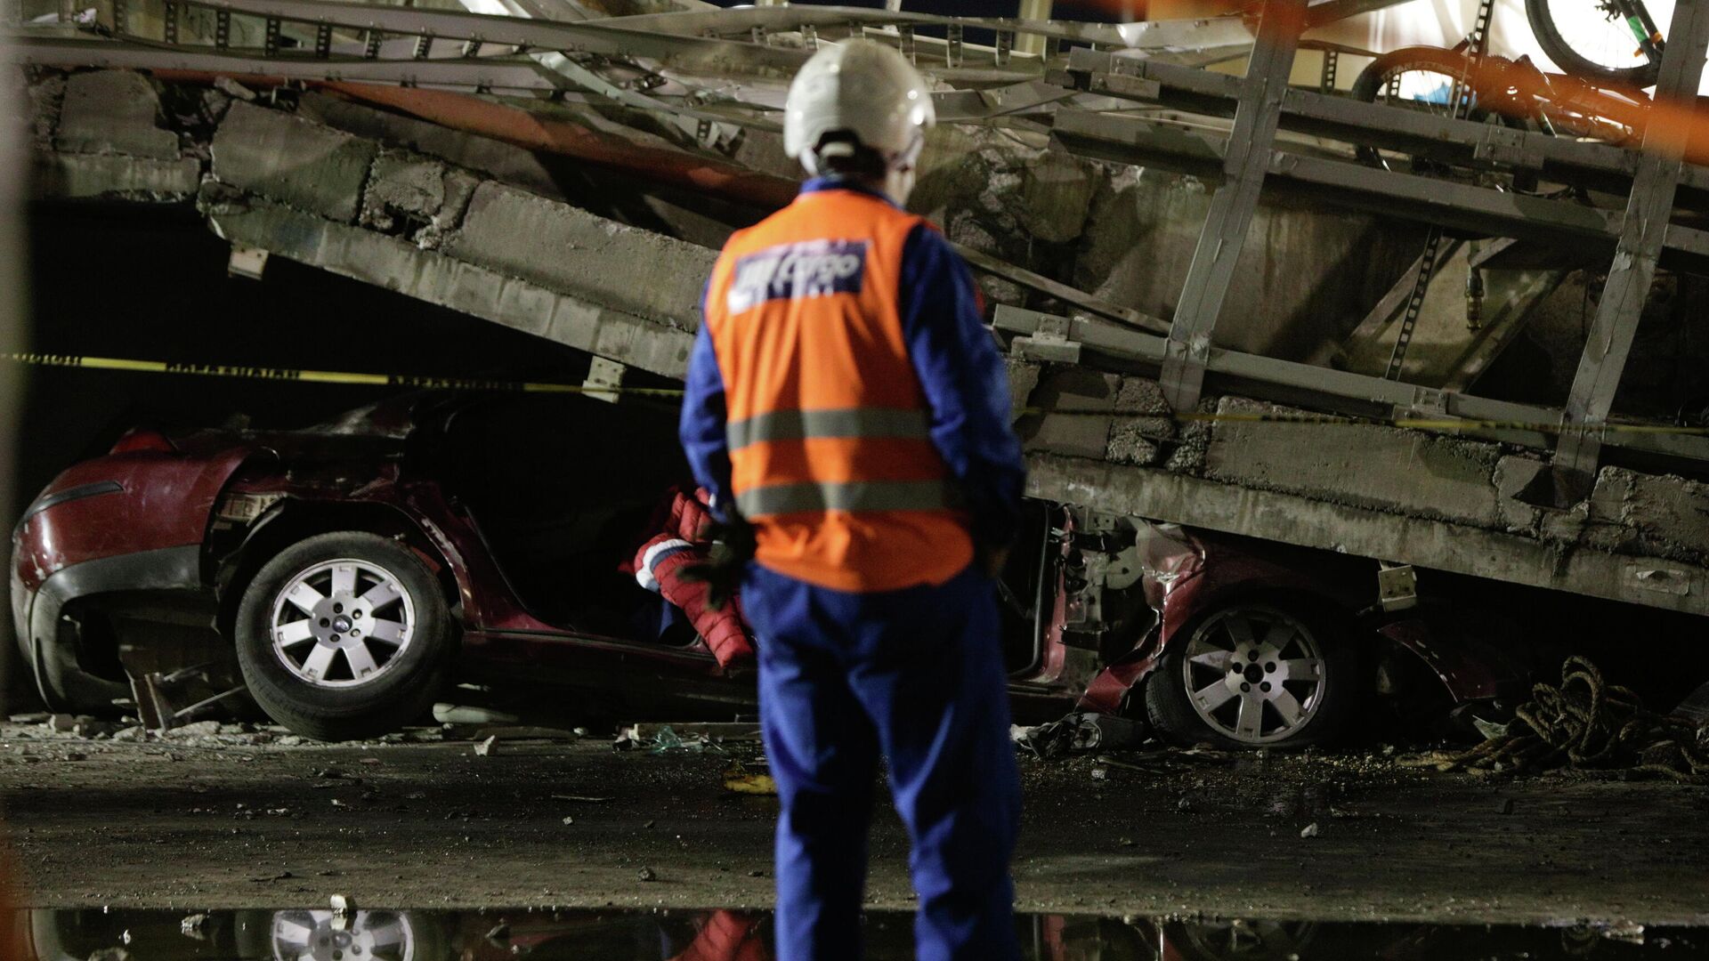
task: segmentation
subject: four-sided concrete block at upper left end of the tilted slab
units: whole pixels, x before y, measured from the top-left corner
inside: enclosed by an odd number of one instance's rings
[[[214,132],[214,176],[349,224],[379,145],[301,116],[234,101]]]

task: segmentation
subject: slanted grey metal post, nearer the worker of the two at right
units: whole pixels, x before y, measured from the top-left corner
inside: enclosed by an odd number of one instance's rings
[[[1246,84],[1234,109],[1234,130],[1224,154],[1227,178],[1210,198],[1205,227],[1181,287],[1181,303],[1169,328],[1164,361],[1164,398],[1176,410],[1198,405],[1210,357],[1212,333],[1234,280],[1234,267],[1258,210],[1258,195],[1270,169],[1270,145],[1282,118],[1306,0],[1265,0],[1258,17],[1258,43],[1246,67]]]

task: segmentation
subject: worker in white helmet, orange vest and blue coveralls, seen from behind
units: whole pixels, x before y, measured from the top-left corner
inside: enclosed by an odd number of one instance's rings
[[[880,754],[913,840],[918,956],[1017,958],[993,578],[1024,465],[967,267],[901,209],[933,121],[901,53],[815,53],[784,108],[812,180],[730,238],[689,361],[682,443],[726,523],[704,576],[740,580],[759,638],[779,961],[860,956]]]

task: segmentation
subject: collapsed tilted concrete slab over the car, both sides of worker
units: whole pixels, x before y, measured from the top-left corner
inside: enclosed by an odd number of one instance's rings
[[[58,109],[62,99],[70,94],[44,91],[39,109]],[[326,101],[297,116],[236,101],[210,139],[186,142],[183,157],[51,149],[44,162],[60,173],[43,185],[62,197],[183,197],[202,180],[198,209],[234,245],[655,374],[684,374],[713,250],[465,168],[419,149],[432,142],[426,133],[381,140],[314,120],[373,120],[355,109]],[[1084,166],[1034,161],[1008,173],[1039,203],[1099,183]],[[1075,243],[1113,243],[1099,238],[1114,221],[1101,224],[1092,207],[1085,222],[1046,222],[1039,210],[1025,219],[1036,234],[1085,231],[1092,239]],[[1097,330],[1078,335],[1089,357],[1102,357]],[[1143,357],[1111,369],[1094,363],[1106,359],[1010,363],[1034,496],[1709,614],[1706,486],[1605,469],[1589,499],[1545,510],[1523,499],[1545,467],[1524,448],[1369,424],[1260,421],[1297,410],[1237,397],[1200,407],[1222,419],[1178,422],[1143,376]]]

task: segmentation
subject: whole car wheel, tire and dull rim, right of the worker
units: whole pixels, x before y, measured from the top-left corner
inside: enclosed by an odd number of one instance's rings
[[[1328,744],[1347,734],[1369,694],[1364,674],[1333,617],[1234,602],[1176,633],[1145,682],[1145,716],[1183,746]]]

